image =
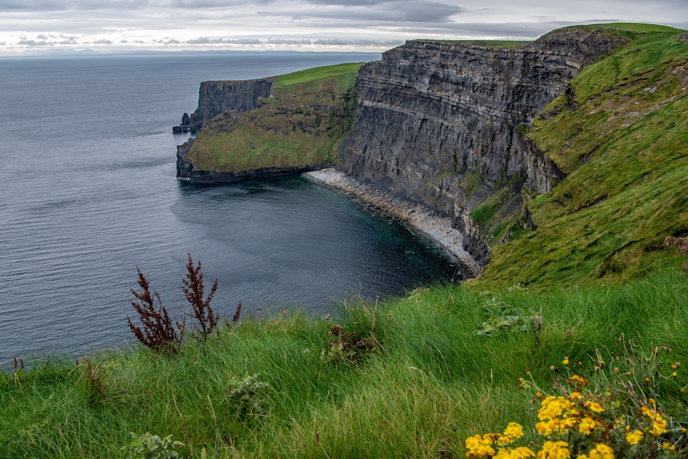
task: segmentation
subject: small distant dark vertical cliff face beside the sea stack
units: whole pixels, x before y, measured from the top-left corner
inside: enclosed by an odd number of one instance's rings
[[[249,111],[260,106],[259,97],[270,97],[272,78],[241,81],[204,81],[198,91],[198,108],[193,112],[195,126],[202,126],[228,110]]]

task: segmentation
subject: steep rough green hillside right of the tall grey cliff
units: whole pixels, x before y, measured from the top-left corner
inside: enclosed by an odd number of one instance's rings
[[[568,177],[528,202],[537,231],[493,247],[473,284],[609,282],[678,262],[656,249],[688,229],[688,41],[604,27],[632,41],[586,67],[574,100],[554,100],[528,134]]]

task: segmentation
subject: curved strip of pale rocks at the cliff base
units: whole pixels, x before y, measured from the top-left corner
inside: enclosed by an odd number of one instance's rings
[[[465,271],[462,275],[466,277],[480,275],[479,263],[464,250],[463,236],[458,229],[451,227],[451,219],[448,216],[440,216],[438,212],[422,204],[405,201],[389,192],[363,185],[334,168],[305,172],[304,176],[342,190],[368,205],[374,212],[405,221],[412,229],[426,234],[449,252],[458,261],[461,270]]]

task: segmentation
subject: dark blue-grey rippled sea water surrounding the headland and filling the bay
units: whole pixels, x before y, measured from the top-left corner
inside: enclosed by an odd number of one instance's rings
[[[0,366],[133,335],[136,266],[184,308],[186,251],[213,304],[334,311],[345,293],[402,293],[453,274],[407,229],[299,176],[224,186],[175,179],[171,126],[203,80],[286,74],[373,53],[0,58]],[[210,282],[208,282],[210,283]]]

